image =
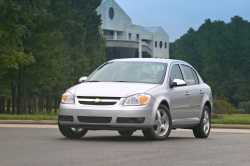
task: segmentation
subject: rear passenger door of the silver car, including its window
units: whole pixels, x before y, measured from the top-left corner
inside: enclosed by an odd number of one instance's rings
[[[199,120],[202,100],[199,78],[196,71],[191,66],[181,64],[181,70],[184,76],[184,80],[187,83],[186,95],[189,102],[188,118]]]

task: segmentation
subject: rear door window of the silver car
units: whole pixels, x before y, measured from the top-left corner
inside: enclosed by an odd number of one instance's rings
[[[186,81],[187,85],[199,84],[199,79],[196,72],[187,65],[181,65],[181,66],[184,74],[184,80]]]

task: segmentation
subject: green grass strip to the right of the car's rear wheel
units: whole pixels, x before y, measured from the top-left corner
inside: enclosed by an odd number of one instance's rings
[[[250,125],[250,114],[216,115],[213,117],[214,124],[242,124]]]

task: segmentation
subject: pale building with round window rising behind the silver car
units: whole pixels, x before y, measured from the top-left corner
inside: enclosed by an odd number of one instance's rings
[[[103,0],[97,12],[102,18],[108,59],[169,58],[169,36],[162,27],[134,24],[115,0]]]

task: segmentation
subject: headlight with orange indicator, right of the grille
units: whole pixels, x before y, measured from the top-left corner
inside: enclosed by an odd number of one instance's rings
[[[125,106],[144,106],[150,102],[151,96],[147,94],[136,94],[125,99]]]

